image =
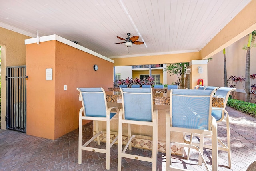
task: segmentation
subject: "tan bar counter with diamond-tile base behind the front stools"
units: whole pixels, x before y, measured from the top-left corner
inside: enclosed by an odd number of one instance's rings
[[[119,109],[122,108],[122,96],[119,88],[109,88],[109,91],[106,91],[106,99],[108,102],[108,107],[116,106]],[[166,92],[166,93],[156,93],[156,92]],[[223,105],[223,99],[214,97],[213,98],[213,107],[221,107]],[[170,90],[167,89],[153,89],[153,108],[158,110],[158,151],[165,153],[165,127],[166,127],[166,113],[170,113]],[[111,121],[111,131],[118,132],[118,120],[115,119]],[[106,123],[102,121],[99,124],[99,130],[104,129]],[[94,127],[95,128],[95,127]],[[143,125],[134,125],[131,127],[132,132],[140,135],[152,135],[152,127],[143,126]],[[94,130],[95,131],[95,130]],[[126,144],[128,137],[127,127],[123,125],[123,144]],[[115,135],[112,135],[113,137]],[[171,133],[171,139],[174,139],[176,142],[183,142],[183,133],[174,132]],[[101,141],[106,141],[105,136],[100,137]],[[142,139],[134,139],[132,141],[132,146],[142,149],[150,149],[151,142],[144,141]],[[183,155],[182,148],[172,148],[172,153],[176,155]]]

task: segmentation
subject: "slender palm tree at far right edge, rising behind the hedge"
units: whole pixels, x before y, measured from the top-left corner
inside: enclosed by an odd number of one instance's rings
[[[245,49],[246,52],[246,63],[245,63],[245,93],[246,93],[246,102],[250,102],[250,52],[251,52],[251,44],[254,42],[256,36],[256,30],[249,34],[249,40],[247,47]]]

